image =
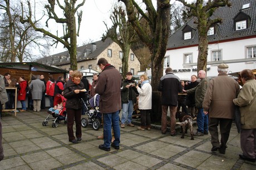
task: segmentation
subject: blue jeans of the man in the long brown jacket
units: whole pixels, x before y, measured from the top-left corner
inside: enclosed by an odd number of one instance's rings
[[[104,119],[104,147],[110,148],[111,140],[112,140],[112,133],[111,133],[111,126],[113,126],[114,130],[114,145],[119,146],[120,143],[120,127],[119,127],[119,111],[110,113],[110,114],[103,114]]]

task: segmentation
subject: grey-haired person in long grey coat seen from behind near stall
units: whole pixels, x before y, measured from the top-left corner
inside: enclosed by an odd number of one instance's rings
[[[29,89],[32,91],[34,111],[40,111],[42,94],[43,91],[45,91],[45,83],[40,80],[40,75],[36,75],[36,80],[31,81],[31,84],[29,84]]]

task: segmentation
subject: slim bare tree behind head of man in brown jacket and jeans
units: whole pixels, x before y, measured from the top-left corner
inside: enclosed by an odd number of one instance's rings
[[[138,14],[137,17],[139,17]],[[122,49],[122,77],[125,79],[129,66],[128,59],[131,44],[137,41],[136,32],[131,23],[126,20],[126,13],[121,6],[114,7],[110,19],[113,25],[111,28],[108,28],[107,24],[104,22],[107,31],[106,34],[103,35],[102,40],[105,40],[107,37],[109,37]]]

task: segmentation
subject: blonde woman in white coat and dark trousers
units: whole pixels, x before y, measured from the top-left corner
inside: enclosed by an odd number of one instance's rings
[[[139,109],[141,114],[141,126],[137,129],[144,131],[145,128],[150,130],[150,110],[152,108],[152,87],[149,83],[149,78],[145,74],[140,76],[141,87],[136,86],[139,92]]]

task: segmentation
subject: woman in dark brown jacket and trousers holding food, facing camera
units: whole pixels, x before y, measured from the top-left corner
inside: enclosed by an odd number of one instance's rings
[[[78,143],[81,141],[81,111],[82,101],[81,98],[85,97],[85,86],[81,82],[82,73],[80,71],[73,71],[71,79],[67,81],[64,89],[64,97],[66,101],[67,111],[67,133],[68,141]],[[76,138],[73,133],[74,119],[76,121]]]

